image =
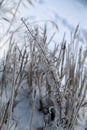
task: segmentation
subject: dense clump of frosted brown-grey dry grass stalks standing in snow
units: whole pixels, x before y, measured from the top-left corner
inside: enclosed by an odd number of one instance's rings
[[[58,129],[73,130],[87,90],[87,69],[85,68],[87,49],[77,46],[80,42],[78,26],[69,44],[63,39],[60,44],[55,45],[53,51],[50,51],[49,44],[52,39],[47,42],[46,26],[40,33],[38,27],[30,29],[24,20],[22,23],[26,29],[25,46],[19,47],[13,38],[10,40],[0,81],[3,84],[5,77],[4,83],[6,81],[6,85],[11,87],[8,126],[14,102],[24,85],[32,101],[39,97],[38,110],[44,113],[45,107],[48,109],[54,107],[55,123]],[[33,106],[37,107],[35,104]]]

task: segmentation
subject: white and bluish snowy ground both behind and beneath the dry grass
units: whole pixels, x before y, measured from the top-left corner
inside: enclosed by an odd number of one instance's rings
[[[57,35],[55,36],[55,41],[61,41],[64,33],[66,33],[67,41],[70,40],[70,32],[73,32],[75,27],[79,24],[81,37],[85,41],[87,39],[87,1],[86,0],[36,0],[34,6],[28,6],[24,8],[23,5],[20,5],[19,13],[17,14],[17,27],[21,23],[21,18],[29,18],[30,24],[34,21],[40,21],[39,25],[43,26],[43,21],[54,21],[58,25]],[[6,25],[5,25],[6,26]],[[14,31],[16,28],[14,25],[11,28],[11,31]],[[52,29],[52,27],[50,27]],[[5,31],[5,30],[4,30]],[[48,35],[55,31],[50,30]],[[50,34],[49,34],[50,33]],[[2,43],[3,44],[3,43]],[[84,46],[83,45],[83,46]],[[1,45],[2,46],[2,45]],[[53,43],[50,48],[53,48]],[[7,47],[5,48],[7,50]],[[0,52],[1,57],[3,57],[3,52]],[[30,99],[28,92],[25,87],[19,92],[19,97],[17,97],[17,106],[14,108],[12,117],[14,119],[10,120],[12,126],[10,130],[28,130],[33,106],[30,105]],[[10,88],[9,88],[10,90]],[[3,93],[0,97],[0,102],[7,103],[9,98],[9,90],[7,92],[7,97]],[[27,95],[27,96],[25,96]],[[21,100],[21,101],[19,101]],[[37,103],[37,102],[36,102]],[[38,104],[38,103],[37,103]],[[79,125],[76,126],[75,130],[85,130],[87,127],[87,106],[80,112]],[[84,116],[83,116],[84,115]],[[37,109],[34,111],[34,117],[32,126],[37,129],[37,127],[42,128],[45,126],[43,120],[43,114],[38,112]],[[56,128],[55,128],[56,129]],[[1,130],[1,129],[0,129]],[[7,130],[7,124],[3,126],[2,130]],[[48,130],[48,129],[47,129]]]

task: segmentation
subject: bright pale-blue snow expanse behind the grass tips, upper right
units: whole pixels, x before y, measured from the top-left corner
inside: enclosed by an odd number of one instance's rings
[[[22,17],[29,17],[33,20],[53,20],[59,26],[59,34],[73,31],[80,25],[82,32],[87,29],[87,2],[79,0],[43,0],[38,1],[35,7],[29,7],[22,12]],[[21,7],[22,8],[22,7]],[[80,12],[79,12],[80,10]]]

